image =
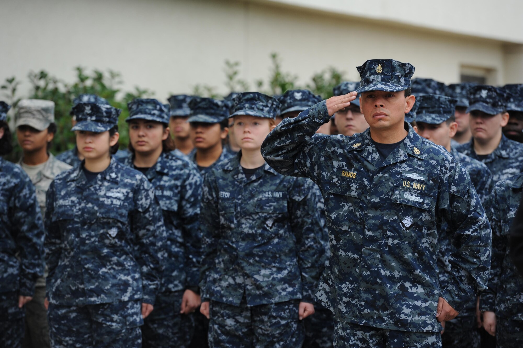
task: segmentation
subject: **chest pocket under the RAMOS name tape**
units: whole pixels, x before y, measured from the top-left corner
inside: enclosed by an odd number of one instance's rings
[[[355,225],[361,225],[361,214],[365,210],[364,191],[363,181],[333,176],[325,201],[327,224],[343,230],[353,230]]]

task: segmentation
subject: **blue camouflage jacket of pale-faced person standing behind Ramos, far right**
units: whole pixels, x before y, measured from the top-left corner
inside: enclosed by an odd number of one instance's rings
[[[483,162],[492,173],[493,186],[499,180],[508,179],[523,170],[523,144],[510,140],[502,134],[498,147],[480,159],[474,151],[474,139],[456,147],[458,152]]]

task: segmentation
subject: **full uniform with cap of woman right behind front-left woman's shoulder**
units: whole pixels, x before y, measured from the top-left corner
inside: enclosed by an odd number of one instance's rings
[[[134,99],[128,104],[129,118],[169,123],[169,108],[156,99]],[[120,161],[133,168],[130,154]],[[194,323],[192,316],[180,314],[186,289],[199,293],[201,240],[198,237],[202,179],[196,166],[185,156],[163,152],[145,172],[154,186],[163,212],[167,242],[162,246],[163,272],[154,310],[142,326],[143,346],[185,348]]]

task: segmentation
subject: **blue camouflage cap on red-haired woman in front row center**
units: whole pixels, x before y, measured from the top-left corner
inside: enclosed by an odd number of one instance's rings
[[[238,93],[233,99],[231,115],[251,115],[267,119],[275,119],[280,113],[280,102],[259,92]]]

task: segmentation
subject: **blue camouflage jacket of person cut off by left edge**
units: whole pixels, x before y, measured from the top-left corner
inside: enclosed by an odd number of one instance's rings
[[[27,174],[0,157],[0,293],[32,296],[43,275],[43,223]]]

